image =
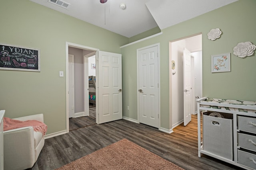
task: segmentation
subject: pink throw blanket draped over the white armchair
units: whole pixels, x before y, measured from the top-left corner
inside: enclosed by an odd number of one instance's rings
[[[8,117],[4,117],[3,122],[4,122],[4,131],[17,129],[20,127],[27,127],[27,126],[32,126],[34,131],[36,132],[39,131],[44,135],[46,134],[46,131],[47,131],[47,125],[37,120],[20,121],[20,120],[14,120]]]

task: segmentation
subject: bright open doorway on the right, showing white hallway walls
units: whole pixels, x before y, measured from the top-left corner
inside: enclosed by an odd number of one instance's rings
[[[191,112],[196,114],[196,97],[202,96],[202,34],[171,41],[170,49],[170,113],[172,129],[184,122],[184,49],[191,56]]]

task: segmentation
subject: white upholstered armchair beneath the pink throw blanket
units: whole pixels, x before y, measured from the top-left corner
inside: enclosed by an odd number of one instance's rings
[[[44,122],[44,115],[36,114],[15,119]],[[44,135],[35,132],[31,126],[4,131],[4,170],[32,168],[43,147]]]

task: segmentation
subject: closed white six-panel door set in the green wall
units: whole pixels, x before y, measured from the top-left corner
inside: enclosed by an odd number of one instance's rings
[[[159,127],[158,46],[138,51],[139,122]]]

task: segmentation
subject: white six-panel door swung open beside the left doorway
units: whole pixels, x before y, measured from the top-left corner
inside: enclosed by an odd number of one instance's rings
[[[122,119],[122,55],[99,51],[98,123]]]

